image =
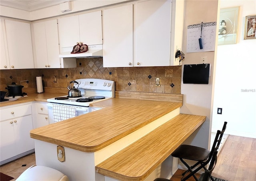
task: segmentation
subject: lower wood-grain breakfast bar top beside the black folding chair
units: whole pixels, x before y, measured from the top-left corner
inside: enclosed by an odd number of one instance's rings
[[[205,120],[206,116],[179,114],[96,165],[96,172],[122,181],[144,180]]]

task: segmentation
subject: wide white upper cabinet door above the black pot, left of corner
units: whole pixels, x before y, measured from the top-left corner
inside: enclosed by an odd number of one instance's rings
[[[30,24],[5,20],[11,69],[34,68]]]

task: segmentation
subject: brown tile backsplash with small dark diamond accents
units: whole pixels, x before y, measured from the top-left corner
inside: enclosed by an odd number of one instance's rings
[[[36,76],[42,76],[45,87],[66,88],[72,80],[98,78],[114,80],[118,91],[140,91],[180,94],[181,67],[126,67],[103,68],[102,58],[81,58],[76,68],[0,70],[0,90],[6,85],[22,82],[24,88],[36,88]],[[57,76],[57,83],[54,83]],[[155,78],[161,78],[161,86],[155,86]]]

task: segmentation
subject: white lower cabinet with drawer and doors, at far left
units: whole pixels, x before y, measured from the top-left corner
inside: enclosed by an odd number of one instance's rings
[[[22,153],[34,149],[34,139],[30,138],[33,129],[31,104],[1,107],[0,113],[0,161],[4,164],[2,161],[16,159],[18,155],[22,157]]]

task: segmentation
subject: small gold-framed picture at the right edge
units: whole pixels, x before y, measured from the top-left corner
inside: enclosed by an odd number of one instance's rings
[[[256,15],[245,17],[244,40],[256,38]]]

